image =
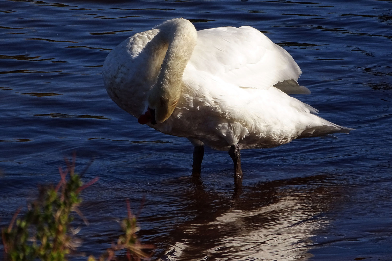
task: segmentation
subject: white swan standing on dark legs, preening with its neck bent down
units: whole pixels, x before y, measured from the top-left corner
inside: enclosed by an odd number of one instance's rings
[[[253,27],[196,31],[176,18],[120,43],[102,74],[111,99],[140,124],[189,139],[192,175],[200,175],[204,145],[229,151],[238,187],[240,149],[354,130],[288,95],[310,94],[297,82],[301,73],[286,50]]]

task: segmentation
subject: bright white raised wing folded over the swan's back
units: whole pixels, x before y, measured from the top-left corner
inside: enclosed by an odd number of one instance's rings
[[[291,55],[250,26],[198,31],[189,63],[242,88],[268,89],[278,84],[288,94],[310,93],[298,85],[301,70]]]

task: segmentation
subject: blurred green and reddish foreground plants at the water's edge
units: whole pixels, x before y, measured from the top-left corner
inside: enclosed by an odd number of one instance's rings
[[[74,229],[71,225],[71,212],[78,213],[85,218],[78,206],[82,202],[80,193],[83,189],[94,184],[99,178],[83,184],[80,175],[74,173],[75,157],[70,164],[67,159],[67,170],[59,167],[61,180],[56,187],[42,186],[39,188],[38,198],[29,203],[27,213],[20,219],[17,216],[21,207],[14,214],[8,228],[2,229],[2,243],[4,245],[4,259],[6,261],[30,261],[37,258],[42,261],[66,261],[70,254],[76,252],[80,240],[74,234],[80,227]],[[69,175],[68,175],[69,174]],[[69,176],[68,179],[66,177]],[[98,259],[89,256],[88,261],[115,260],[121,250],[127,251],[128,260],[140,260],[149,257],[143,249],[154,248],[153,245],[142,245],[136,232],[139,227],[136,217],[131,214],[127,200],[128,215],[120,222],[123,234]],[[14,227],[16,220],[16,226]],[[87,220],[85,220],[87,222]]]

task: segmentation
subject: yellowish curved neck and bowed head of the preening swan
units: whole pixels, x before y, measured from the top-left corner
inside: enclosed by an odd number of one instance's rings
[[[168,44],[158,79],[149,95],[149,107],[155,110],[156,122],[160,123],[170,117],[180,99],[182,75],[196,45],[197,33],[192,23],[183,18],[166,21],[154,29],[160,30],[162,43]]]

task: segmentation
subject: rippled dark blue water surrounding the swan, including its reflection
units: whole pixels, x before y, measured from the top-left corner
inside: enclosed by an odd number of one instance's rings
[[[78,171],[94,159],[85,180],[101,177],[83,192],[86,255],[120,234],[125,199],[136,212],[145,196],[140,237],[157,260],[391,260],[391,9],[377,0],[0,1],[0,225],[37,184],[57,182],[76,151]],[[198,30],[264,32],[301,67],[312,95],[298,98],[357,130],[241,151],[237,198],[229,155],[206,148],[195,182],[188,140],[138,124],[101,76],[114,46],[177,17]]]

